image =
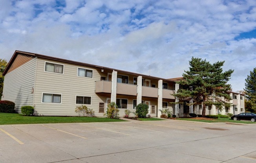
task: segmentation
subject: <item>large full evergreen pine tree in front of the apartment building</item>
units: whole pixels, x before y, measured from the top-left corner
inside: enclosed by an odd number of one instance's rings
[[[215,105],[219,109],[223,106],[230,107],[227,101],[231,100],[231,97],[227,91],[231,90],[231,86],[227,82],[234,70],[222,72],[224,62],[210,64],[201,58],[192,57],[189,61],[189,71],[185,71],[183,80],[177,82],[181,87],[174,96],[179,99],[179,103],[203,103],[203,117],[207,105]],[[189,101],[193,103],[189,104]]]

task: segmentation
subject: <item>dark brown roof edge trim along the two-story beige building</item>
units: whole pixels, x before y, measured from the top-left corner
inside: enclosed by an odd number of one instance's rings
[[[123,72],[123,73],[127,73],[127,74],[133,74],[133,75],[137,75],[137,76],[144,76],[144,77],[148,77],[148,78],[154,78],[154,79],[157,79],[157,80],[165,80],[165,81],[172,81],[174,82],[174,80],[170,80],[170,79],[164,79],[164,78],[158,78],[158,77],[155,77],[155,76],[149,76],[149,75],[144,75],[144,74],[138,74],[138,73],[134,73],[134,72],[129,72],[129,71],[123,71],[123,70],[118,70],[118,69],[112,69],[112,68],[109,68],[109,67],[103,67],[103,66],[98,66],[98,65],[92,65],[92,64],[88,64],[88,63],[82,63],[82,62],[76,62],[76,61],[71,61],[71,60],[65,60],[65,59],[62,59],[62,58],[56,58],[56,57],[52,57],[52,56],[46,56],[46,55],[42,55],[42,54],[36,54],[36,53],[29,53],[29,52],[24,52],[24,51],[15,51],[13,56],[11,57],[11,60],[9,61],[9,63],[7,64],[4,72],[3,72],[3,76],[7,73],[7,71],[9,70],[9,68],[11,67],[12,63],[14,62],[16,56],[18,54],[27,54],[27,55],[30,55],[30,56],[35,56],[35,57],[38,57],[38,58],[44,58],[44,59],[49,59],[49,60],[55,60],[55,61],[59,61],[59,62],[66,62],[66,63],[73,63],[73,64],[76,64],[76,65],[82,65],[82,66],[87,66],[87,67],[93,67],[93,68],[98,68],[98,69],[106,69],[106,70],[110,70],[110,71],[119,71],[119,72]]]

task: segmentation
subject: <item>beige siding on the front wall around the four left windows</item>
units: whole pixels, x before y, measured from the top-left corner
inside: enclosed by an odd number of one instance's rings
[[[45,72],[45,62],[64,65],[63,74]],[[38,59],[37,81],[35,88],[35,109],[38,115],[45,116],[78,116],[75,108],[81,104],[75,104],[76,95],[91,96],[91,105],[87,107],[95,111],[95,116],[103,116],[99,113],[99,103],[106,103],[106,96],[95,94],[95,81],[100,80],[99,70],[93,70],[93,78],[77,76],[77,67],[92,69],[70,63],[55,62]],[[62,94],[61,103],[42,103],[42,93]]]

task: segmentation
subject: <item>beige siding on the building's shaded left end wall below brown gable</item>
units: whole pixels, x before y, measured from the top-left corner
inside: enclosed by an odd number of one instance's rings
[[[29,61],[8,72],[4,77],[4,90],[2,100],[9,100],[15,103],[15,109],[21,112],[22,106],[33,106],[33,93],[35,89],[36,58],[29,58]]]

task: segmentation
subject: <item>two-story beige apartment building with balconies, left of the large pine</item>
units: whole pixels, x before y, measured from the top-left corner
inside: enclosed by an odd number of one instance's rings
[[[15,102],[18,112],[30,105],[38,115],[78,116],[75,108],[86,105],[103,116],[112,101],[120,116],[142,102],[153,117],[165,108],[175,112],[173,80],[23,51],[15,51],[3,75],[2,100]]]

